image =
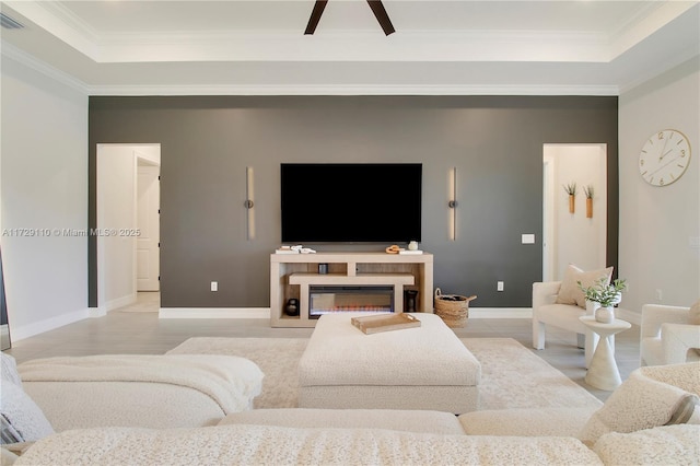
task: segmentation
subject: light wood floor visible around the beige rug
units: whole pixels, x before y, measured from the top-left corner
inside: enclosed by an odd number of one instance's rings
[[[313,331],[271,328],[268,319],[159,319],[158,308],[159,293],[139,293],[133,305],[14,341],[7,352],[18,362],[54,356],[162,354],[190,337],[307,338]],[[470,318],[455,334],[460,338],[514,338],[529,349],[533,343],[529,318]],[[548,329],[546,348],[532,351],[598,399],[607,399],[610,392],[584,382],[583,350],[575,342],[574,334],[552,328]],[[622,380],[639,368],[638,326],[616,336],[616,360]]]

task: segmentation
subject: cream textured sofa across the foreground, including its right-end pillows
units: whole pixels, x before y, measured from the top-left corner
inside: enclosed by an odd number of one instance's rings
[[[270,409],[215,427],[47,435],[36,464],[697,464],[700,363],[640,368],[594,412]]]

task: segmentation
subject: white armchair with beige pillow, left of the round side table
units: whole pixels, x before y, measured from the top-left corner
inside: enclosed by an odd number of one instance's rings
[[[593,308],[588,306],[584,310],[575,304],[557,304],[560,287],[561,281],[533,283],[533,348],[545,349],[547,325],[575,331],[583,336],[584,361],[588,368],[598,343],[598,336],[583,325],[579,317],[593,314]]]

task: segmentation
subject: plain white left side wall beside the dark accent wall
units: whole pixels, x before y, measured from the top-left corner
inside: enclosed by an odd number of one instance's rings
[[[2,258],[19,340],[89,316],[88,237],[65,232],[88,226],[88,96],[7,55],[0,77]]]

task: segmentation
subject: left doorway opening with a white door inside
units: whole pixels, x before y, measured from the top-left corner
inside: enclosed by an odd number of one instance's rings
[[[97,144],[97,308],[158,291],[160,144]]]

